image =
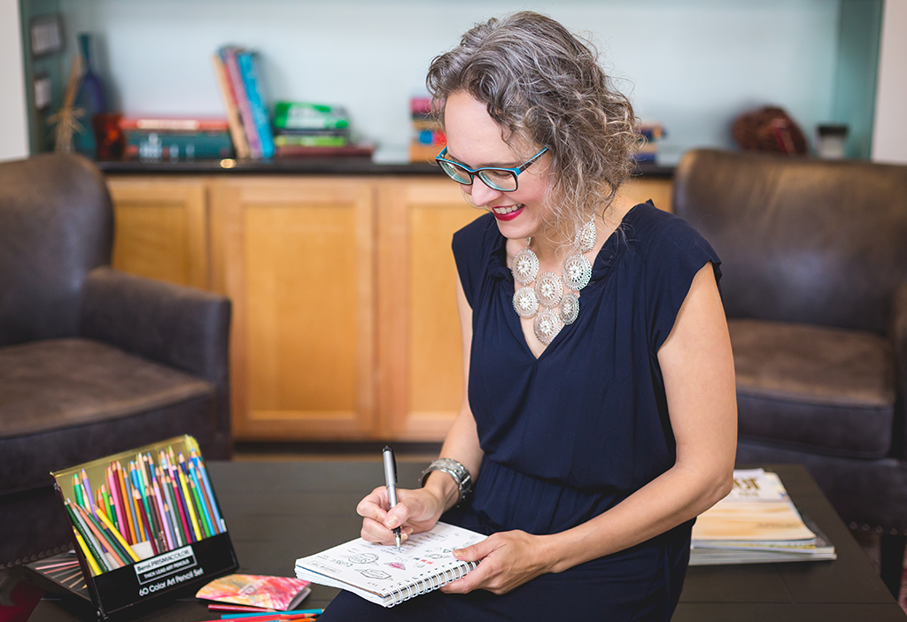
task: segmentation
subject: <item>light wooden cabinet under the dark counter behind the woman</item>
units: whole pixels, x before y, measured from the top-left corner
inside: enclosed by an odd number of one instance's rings
[[[437,177],[111,177],[118,268],[233,302],[243,440],[444,437],[463,398],[451,236],[482,213]],[[670,182],[623,191],[670,208]]]

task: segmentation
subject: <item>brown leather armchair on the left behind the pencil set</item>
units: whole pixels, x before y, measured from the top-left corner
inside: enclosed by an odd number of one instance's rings
[[[191,434],[231,454],[229,301],[110,267],[78,156],[0,164],[0,567],[68,545],[50,472]]]

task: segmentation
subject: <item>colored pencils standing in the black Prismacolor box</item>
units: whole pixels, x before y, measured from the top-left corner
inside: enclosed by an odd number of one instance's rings
[[[75,501],[64,503],[93,575],[227,531],[194,448],[188,459],[170,446],[159,450],[157,463],[151,452],[125,467],[113,460],[93,481],[82,469],[72,485]]]

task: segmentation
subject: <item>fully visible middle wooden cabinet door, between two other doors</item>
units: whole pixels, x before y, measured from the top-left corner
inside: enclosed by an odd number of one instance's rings
[[[213,183],[213,279],[233,301],[237,438],[372,435],[373,195],[371,183],[341,177]]]

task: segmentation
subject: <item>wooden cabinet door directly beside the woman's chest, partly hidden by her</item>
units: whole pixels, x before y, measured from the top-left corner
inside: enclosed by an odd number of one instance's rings
[[[447,179],[379,188],[378,403],[385,436],[442,440],[463,400],[453,233],[482,215]]]

